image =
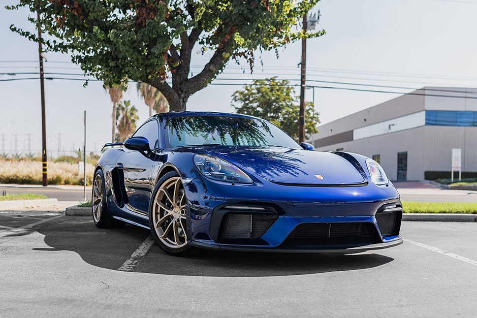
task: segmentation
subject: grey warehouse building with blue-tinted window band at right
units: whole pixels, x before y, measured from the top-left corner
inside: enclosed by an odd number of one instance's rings
[[[316,150],[372,157],[391,180],[450,177],[453,149],[463,176],[477,172],[477,88],[424,87],[318,129]]]

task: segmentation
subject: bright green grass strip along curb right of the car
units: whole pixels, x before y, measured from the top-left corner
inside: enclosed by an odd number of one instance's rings
[[[477,202],[412,202],[403,201],[404,213],[477,214]]]

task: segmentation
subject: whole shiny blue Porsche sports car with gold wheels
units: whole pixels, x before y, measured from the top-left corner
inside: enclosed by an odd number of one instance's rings
[[[156,114],[104,149],[94,224],[148,228],[173,255],[190,247],[354,253],[402,243],[400,196],[378,163],[313,151],[260,118]]]

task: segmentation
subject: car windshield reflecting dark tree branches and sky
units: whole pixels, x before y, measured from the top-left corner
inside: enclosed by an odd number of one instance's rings
[[[196,145],[300,148],[272,123],[235,116],[185,116],[166,119],[168,147]]]

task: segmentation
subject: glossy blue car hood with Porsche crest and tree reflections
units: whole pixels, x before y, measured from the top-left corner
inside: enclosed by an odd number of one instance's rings
[[[332,152],[282,147],[222,148],[214,152],[245,171],[276,183],[319,186],[365,182],[363,168],[346,153],[341,153],[345,154],[342,156]]]

